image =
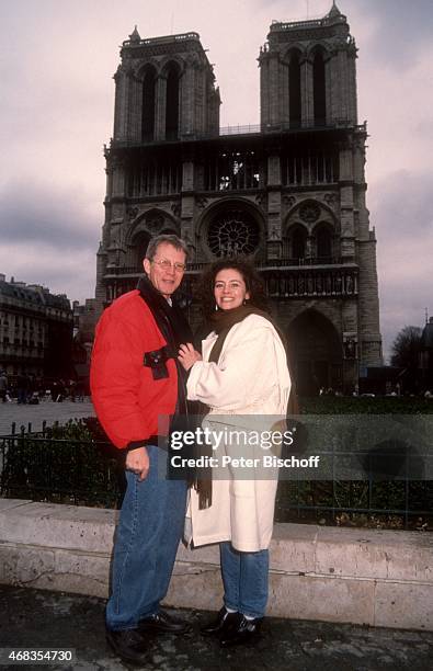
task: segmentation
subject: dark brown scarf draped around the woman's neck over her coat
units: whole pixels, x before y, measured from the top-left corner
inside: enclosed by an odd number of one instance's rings
[[[260,317],[267,319],[267,321],[270,321],[277,331],[283,342],[283,345],[286,345],[286,339],[284,338],[284,334],[280,330],[277,325],[273,321],[271,315],[269,315],[267,312],[260,310],[259,308],[252,305],[241,305],[237,308],[233,308],[232,310],[217,310],[212,315],[209,319],[209,327],[218,336],[214,343],[214,346],[210,350],[209,363],[218,363],[225,340],[230,329],[236,323],[243,321],[243,319],[246,319],[246,317],[249,317],[249,315],[259,315]],[[208,408],[204,403],[201,403],[201,411],[204,416],[208,411]],[[292,414],[297,414],[299,412],[295,393],[290,393],[287,410]],[[204,451],[202,451],[202,454],[206,454],[207,452],[207,456],[210,456],[212,448],[209,448],[208,451],[205,448]],[[198,509],[203,510],[205,508],[209,508],[212,505],[212,468],[197,469],[195,489],[198,492]]]

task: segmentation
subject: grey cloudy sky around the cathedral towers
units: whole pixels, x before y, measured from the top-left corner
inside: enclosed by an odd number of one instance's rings
[[[0,3],[0,273],[92,297],[103,144],[118,46],[196,31],[215,64],[221,125],[259,123],[257,57],[272,20],[332,0],[14,0]],[[338,0],[358,47],[367,205],[378,239],[385,351],[433,315],[433,0]],[[236,66],[235,66],[236,64]]]

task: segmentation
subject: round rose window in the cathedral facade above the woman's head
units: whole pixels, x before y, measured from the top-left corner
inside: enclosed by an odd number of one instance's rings
[[[212,221],[207,241],[216,257],[250,255],[259,247],[259,226],[248,213],[230,209]]]

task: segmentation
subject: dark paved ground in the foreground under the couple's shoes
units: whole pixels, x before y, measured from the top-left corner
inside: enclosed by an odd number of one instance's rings
[[[0,647],[73,648],[76,661],[53,664],[62,671],[122,671],[104,640],[104,601],[94,598],[0,588]],[[180,613],[193,625],[183,637],[149,638],[146,671],[430,671],[433,634],[353,625],[269,618],[253,648],[223,650],[198,635],[208,614]],[[15,669],[2,666],[1,669]],[[26,664],[26,669],[48,667]]]

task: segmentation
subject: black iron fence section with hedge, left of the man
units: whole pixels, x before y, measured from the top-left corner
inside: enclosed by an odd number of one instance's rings
[[[89,431],[94,419],[32,425],[0,436],[0,496],[54,503],[116,508],[125,478],[122,455]]]

